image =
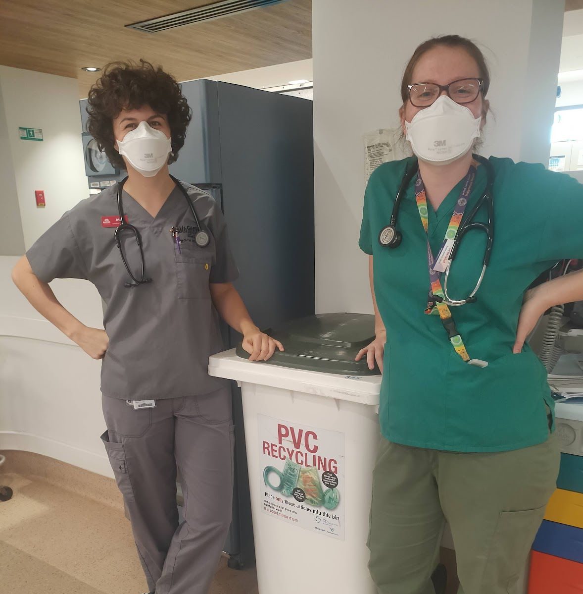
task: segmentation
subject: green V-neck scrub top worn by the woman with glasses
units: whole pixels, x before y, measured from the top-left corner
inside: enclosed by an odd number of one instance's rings
[[[384,437],[394,443],[461,452],[508,451],[546,441],[545,403],[554,411],[546,370],[525,345],[512,353],[522,298],[528,286],[563,258],[583,258],[583,185],[542,165],[490,157],[495,239],[490,265],[474,304],[452,307],[470,358],[462,361],[438,315],[426,315],[429,291],[427,235],[407,189],[398,215],[403,242],[382,247],[407,163],[385,163],[366,188],[360,248],[373,256],[375,296],[386,327],[379,410]],[[437,211],[429,206],[429,241],[436,255],[462,187]],[[486,187],[479,166],[466,212]],[[484,205],[475,220],[486,221]],[[467,297],[482,268],[486,233],[470,231],[452,264],[448,293]]]

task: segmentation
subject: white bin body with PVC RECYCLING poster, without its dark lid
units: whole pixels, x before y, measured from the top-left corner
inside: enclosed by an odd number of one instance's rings
[[[380,375],[254,363],[210,375],[242,388],[259,594],[376,594],[366,546]]]

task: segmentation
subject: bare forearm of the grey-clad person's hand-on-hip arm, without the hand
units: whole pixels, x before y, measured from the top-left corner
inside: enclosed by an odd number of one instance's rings
[[[72,339],[83,327],[83,324],[59,303],[49,285],[34,275],[26,256],[23,256],[12,270],[12,281],[34,309],[69,338]]]

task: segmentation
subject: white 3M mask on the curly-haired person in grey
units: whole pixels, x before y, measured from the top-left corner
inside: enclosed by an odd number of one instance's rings
[[[153,178],[168,162],[172,139],[160,130],[154,130],[145,121],[130,130],[123,140],[118,140],[119,154],[143,176]]]

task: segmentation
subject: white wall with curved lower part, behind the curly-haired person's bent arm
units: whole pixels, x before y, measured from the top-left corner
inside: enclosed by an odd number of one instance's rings
[[[0,66],[0,91],[0,215],[8,205],[20,226],[20,243],[0,243],[0,450],[34,451],[111,476],[99,440],[100,362],[43,320],[10,279],[15,255],[88,195],[77,81]],[[20,126],[42,128],[45,140],[20,140]],[[45,190],[46,208],[36,208],[35,189]],[[83,323],[103,328],[93,285],[51,286]]]

